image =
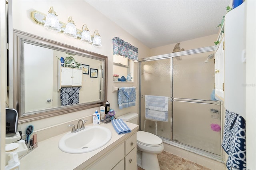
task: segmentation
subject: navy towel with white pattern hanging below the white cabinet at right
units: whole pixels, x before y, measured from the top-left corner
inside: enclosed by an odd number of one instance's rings
[[[245,120],[226,110],[222,148],[228,154],[226,166],[246,170]]]

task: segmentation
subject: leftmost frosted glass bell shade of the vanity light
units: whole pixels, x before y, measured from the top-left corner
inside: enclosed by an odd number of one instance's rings
[[[58,15],[53,10],[53,7],[51,6],[46,16],[44,27],[52,31],[60,32],[60,22],[57,16]]]

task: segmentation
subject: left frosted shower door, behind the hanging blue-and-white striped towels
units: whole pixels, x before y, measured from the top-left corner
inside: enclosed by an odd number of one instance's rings
[[[145,119],[145,95],[171,97],[171,65],[168,59],[141,62],[140,128],[146,132],[171,138],[171,102],[168,103],[168,122]]]

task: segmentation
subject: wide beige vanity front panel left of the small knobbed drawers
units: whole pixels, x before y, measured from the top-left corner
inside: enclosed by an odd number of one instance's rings
[[[112,150],[109,154],[104,156],[98,162],[96,162],[90,168],[86,168],[87,170],[111,170],[120,160],[124,158],[124,143],[117,146],[114,150]]]

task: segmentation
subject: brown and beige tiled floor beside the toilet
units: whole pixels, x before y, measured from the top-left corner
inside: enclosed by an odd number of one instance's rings
[[[157,155],[160,170],[210,170],[204,166],[163,151]],[[138,170],[143,170],[138,166]]]

